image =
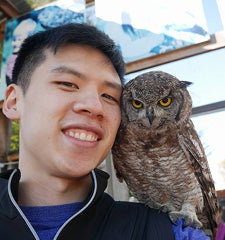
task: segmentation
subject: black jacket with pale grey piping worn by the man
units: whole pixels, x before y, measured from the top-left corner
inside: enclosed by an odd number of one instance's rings
[[[94,190],[84,207],[58,231],[54,240],[172,240],[168,216],[140,203],[114,201],[104,190],[109,175],[92,171]],[[17,205],[19,170],[0,174],[0,239],[39,239]]]

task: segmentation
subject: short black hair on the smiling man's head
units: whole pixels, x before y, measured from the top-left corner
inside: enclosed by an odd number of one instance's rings
[[[21,86],[25,93],[33,71],[46,59],[45,50],[56,53],[66,44],[88,45],[101,51],[111,61],[123,84],[125,63],[115,42],[94,26],[75,23],[40,31],[26,38],[13,68],[12,83]]]

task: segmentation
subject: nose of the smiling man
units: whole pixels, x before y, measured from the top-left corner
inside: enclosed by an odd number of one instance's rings
[[[73,111],[88,114],[92,117],[102,118],[104,110],[101,96],[95,90],[83,92],[74,102]]]

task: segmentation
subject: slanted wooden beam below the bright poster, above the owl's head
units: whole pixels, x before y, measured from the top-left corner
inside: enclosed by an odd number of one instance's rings
[[[132,73],[150,67],[155,67],[224,47],[225,32],[218,32],[211,35],[209,41],[127,63],[126,73]]]

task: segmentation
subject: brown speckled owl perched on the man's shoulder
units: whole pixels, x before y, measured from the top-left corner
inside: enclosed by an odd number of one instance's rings
[[[217,196],[190,119],[190,84],[162,71],[125,84],[113,163],[138,201],[168,212],[174,223],[184,219],[185,225],[215,236]]]

